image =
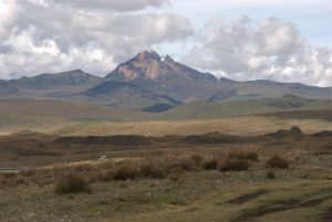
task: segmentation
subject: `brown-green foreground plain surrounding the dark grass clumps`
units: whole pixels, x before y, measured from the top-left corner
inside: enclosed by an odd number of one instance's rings
[[[159,138],[48,137],[25,131],[0,140],[2,148],[27,145],[39,150],[27,156],[4,149],[7,158],[25,162],[29,170],[0,176],[0,221],[3,222],[331,221],[332,137],[326,131],[305,135],[293,128],[249,137],[215,133]],[[40,142],[43,146],[34,146]],[[53,158],[48,152],[51,150]],[[239,154],[257,154],[258,160],[250,155],[249,169],[240,171],[195,165],[199,159],[222,160]],[[108,159],[98,160],[101,155]],[[267,160],[276,155],[287,160],[288,169],[267,168]],[[157,166],[169,166],[164,158],[180,161],[172,165],[175,168],[164,177],[138,173],[126,179],[118,171],[116,177],[101,176],[101,172],[123,170],[118,168],[121,165],[134,163],[142,169],[139,166],[151,158]],[[43,162],[33,161],[38,159]],[[187,160],[193,161],[188,165]],[[178,169],[179,166],[184,168]],[[56,181],[69,170],[85,178],[92,192],[56,194]],[[271,170],[274,179],[267,178]]]

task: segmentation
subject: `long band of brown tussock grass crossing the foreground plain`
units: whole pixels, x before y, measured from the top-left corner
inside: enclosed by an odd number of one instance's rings
[[[90,192],[89,184],[108,181],[164,179],[178,181],[183,173],[219,170],[247,170],[257,160],[255,152],[189,154],[184,156],[128,158],[121,161],[104,160],[98,163],[61,166],[48,169],[29,169],[3,173],[0,184],[17,186],[35,183],[39,187],[54,184],[55,193]],[[55,178],[55,180],[54,180]],[[58,179],[58,180],[56,180]]]

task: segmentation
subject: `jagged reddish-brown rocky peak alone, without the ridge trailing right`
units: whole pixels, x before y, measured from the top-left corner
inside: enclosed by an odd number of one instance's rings
[[[209,73],[201,73],[178,62],[169,55],[160,57],[156,52],[142,52],[126,63],[120,64],[106,80],[129,82],[158,95],[188,102],[209,99],[214,94],[232,95],[234,91],[220,87],[219,81]]]

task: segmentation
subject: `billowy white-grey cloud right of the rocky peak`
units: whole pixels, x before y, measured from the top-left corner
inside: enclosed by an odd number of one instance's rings
[[[332,85],[332,51],[310,44],[293,23],[278,18],[210,19],[184,62],[240,81]]]

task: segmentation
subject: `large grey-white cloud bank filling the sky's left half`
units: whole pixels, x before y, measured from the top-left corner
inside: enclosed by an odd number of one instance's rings
[[[0,1],[0,77],[83,68],[110,72],[118,62],[193,34],[188,19],[151,13],[165,0]],[[93,3],[93,4],[92,4]]]

